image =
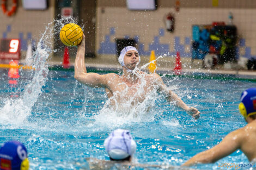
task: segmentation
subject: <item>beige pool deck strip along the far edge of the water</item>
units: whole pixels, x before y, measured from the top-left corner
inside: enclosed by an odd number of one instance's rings
[[[76,53],[70,54],[70,70],[74,71],[74,62],[75,62]],[[118,63],[117,56],[115,55],[99,55],[95,58],[85,58],[86,67],[88,70],[99,70],[99,71],[120,71],[122,70],[121,65]],[[149,62],[148,56],[141,56],[141,64],[139,67],[147,64]],[[160,74],[174,74],[175,67],[175,57],[163,57],[157,59],[157,69],[156,73]],[[9,64],[9,62],[6,62]],[[21,65],[26,65],[25,58],[21,58]],[[202,74],[222,74],[222,75],[238,75],[238,77],[243,77],[246,79],[254,79],[256,81],[256,71],[246,70],[245,68],[241,68],[241,66],[237,64],[229,65],[229,67],[225,67],[224,65],[217,65],[213,69],[205,69],[203,68],[202,60],[194,59],[192,61],[191,58],[181,58],[182,70],[181,74],[194,74],[194,73],[202,73]],[[62,68],[62,56],[50,56],[47,61],[47,65],[51,68],[58,67]],[[58,69],[58,70],[59,70]],[[147,70],[142,69],[143,71]]]

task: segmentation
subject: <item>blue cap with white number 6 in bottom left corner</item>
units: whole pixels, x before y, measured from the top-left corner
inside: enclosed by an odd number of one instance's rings
[[[27,170],[29,161],[27,149],[18,141],[9,141],[0,148],[1,170]]]

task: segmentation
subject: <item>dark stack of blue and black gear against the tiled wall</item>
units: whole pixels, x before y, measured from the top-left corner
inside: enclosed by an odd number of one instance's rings
[[[205,59],[207,54],[216,54],[219,64],[237,59],[236,26],[225,26],[224,22],[219,23],[192,26],[192,59]]]

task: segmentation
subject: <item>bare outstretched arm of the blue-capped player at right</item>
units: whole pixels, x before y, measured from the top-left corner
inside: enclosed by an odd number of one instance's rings
[[[191,166],[197,163],[214,163],[239,149],[242,138],[241,129],[235,130],[225,136],[221,143],[209,150],[205,150],[204,152],[193,156],[182,166]]]

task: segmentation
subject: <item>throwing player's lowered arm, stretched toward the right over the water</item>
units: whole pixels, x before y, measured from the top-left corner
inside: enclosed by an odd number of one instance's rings
[[[162,78],[158,74],[154,74],[154,79],[157,80],[157,84],[159,84],[159,91],[164,93],[169,102],[175,102],[175,105],[184,109],[188,114],[192,115],[195,119],[198,119],[200,116],[200,112],[193,107],[188,107],[174,92],[168,90],[166,85],[163,83]]]

